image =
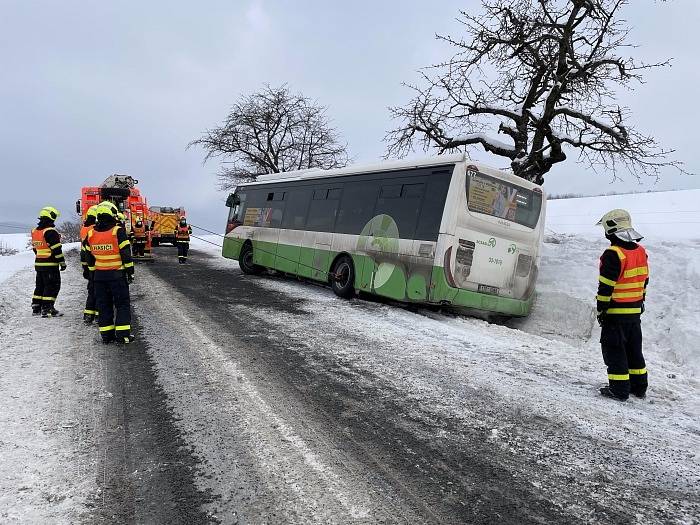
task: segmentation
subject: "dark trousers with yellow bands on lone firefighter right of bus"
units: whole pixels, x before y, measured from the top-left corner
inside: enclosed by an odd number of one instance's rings
[[[629,397],[630,393],[643,396],[647,391],[647,369],[642,354],[641,321],[611,317],[603,322],[600,334],[610,390],[622,398]]]

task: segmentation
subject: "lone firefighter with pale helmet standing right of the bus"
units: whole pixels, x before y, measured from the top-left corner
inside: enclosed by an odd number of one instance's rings
[[[597,310],[600,344],[608,367],[608,386],[600,393],[618,401],[630,394],[644,398],[647,369],[642,354],[642,326],[649,265],[638,242],[642,236],[632,227],[630,214],[612,210],[598,221],[610,246],[600,257]]]

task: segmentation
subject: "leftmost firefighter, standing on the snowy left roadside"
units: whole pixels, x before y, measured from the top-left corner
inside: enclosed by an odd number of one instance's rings
[[[39,223],[32,230],[32,249],[35,260],[36,287],[32,296],[32,314],[41,317],[57,317],[61,314],[55,308],[56,298],[61,289],[61,274],[66,269],[66,261],[61,250],[61,234],[56,231],[55,221],[60,213],[53,206],[42,208]]]

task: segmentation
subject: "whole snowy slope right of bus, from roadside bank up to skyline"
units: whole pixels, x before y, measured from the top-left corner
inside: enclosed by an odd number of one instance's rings
[[[607,211],[627,209],[645,238],[649,289],[642,316],[645,353],[676,365],[679,382],[698,389],[700,372],[700,190],[668,191],[547,203],[546,242],[532,315],[518,328],[545,337],[580,339],[597,347],[598,259],[609,245],[595,223]],[[652,372],[653,375],[653,372]]]

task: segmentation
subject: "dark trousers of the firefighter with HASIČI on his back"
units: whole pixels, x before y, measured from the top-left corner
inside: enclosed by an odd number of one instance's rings
[[[99,314],[98,326],[103,340],[131,334],[131,301],[129,285],[126,278],[118,277],[110,280],[95,279],[95,299]]]

